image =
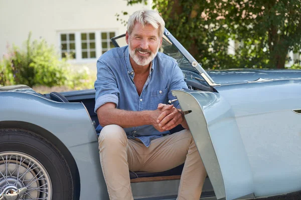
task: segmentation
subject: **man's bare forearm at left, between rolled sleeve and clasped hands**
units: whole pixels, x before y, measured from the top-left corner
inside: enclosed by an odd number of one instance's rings
[[[101,126],[117,124],[124,128],[153,124],[156,120],[153,118],[152,110],[128,111],[108,108],[97,110],[97,115]]]

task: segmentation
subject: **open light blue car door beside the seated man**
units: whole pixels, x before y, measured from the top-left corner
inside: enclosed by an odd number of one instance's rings
[[[253,198],[245,147],[228,102],[217,92],[173,91],[183,110],[217,199]]]

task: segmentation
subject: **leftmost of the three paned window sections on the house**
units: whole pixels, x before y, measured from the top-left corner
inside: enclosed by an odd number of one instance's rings
[[[70,54],[73,58],[76,58],[75,54],[75,34],[61,34],[61,52],[62,57],[66,57],[66,54]]]

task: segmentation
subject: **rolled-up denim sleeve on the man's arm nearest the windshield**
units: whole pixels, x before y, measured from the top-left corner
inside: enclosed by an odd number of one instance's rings
[[[176,66],[174,67],[174,70],[172,72],[170,90],[168,93],[168,98],[170,100],[176,98],[176,96],[174,96],[172,94],[172,90],[175,90],[175,89],[188,89],[188,86],[184,80],[184,74],[183,74],[181,68],[178,66],[178,64],[176,64]],[[173,104],[176,108],[179,108],[179,109],[181,108],[178,100],[174,101]]]

